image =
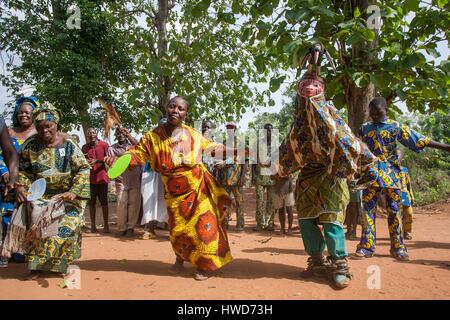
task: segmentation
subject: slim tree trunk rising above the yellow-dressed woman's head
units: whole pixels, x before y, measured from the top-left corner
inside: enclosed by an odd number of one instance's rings
[[[169,0],[158,0],[158,15],[156,17],[158,29],[158,58],[163,59],[168,50],[167,20],[169,17]],[[166,114],[166,106],[170,98],[170,78],[161,74],[158,77],[160,92],[158,95],[158,108]]]

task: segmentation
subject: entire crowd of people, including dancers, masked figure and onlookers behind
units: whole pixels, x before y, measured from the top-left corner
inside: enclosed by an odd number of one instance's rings
[[[376,208],[382,197],[391,255],[409,260],[404,240],[411,239],[413,196],[398,143],[416,152],[425,147],[450,151],[450,146],[389,119],[382,97],[370,102],[370,121],[354,133],[324,91],[320,72],[309,68],[298,85],[293,125],[277,152],[270,147],[274,128],[266,124],[264,143],[256,154],[246,150],[244,161],[238,161],[242,155],[237,155],[236,143],[210,138],[211,121],[203,122],[202,132],[187,126],[189,103],[179,96],[169,101],[166,118],[139,141],[118,127],[117,142],[109,146],[90,128],[82,147],[77,137],[61,132],[61,113],[53,105],[36,97],[20,98],[12,127],[0,119],[1,266],[8,266],[10,259],[27,262],[31,279],[44,271],[67,272],[81,256],[88,203],[87,231],[98,232],[97,199],[102,232],[110,233],[107,168],[124,154],[131,155],[130,166],[114,181],[118,236],[133,237],[136,226],[145,224],[147,238],[154,238],[158,223],[166,222],[175,255],[172,274],[190,262],[196,266],[194,278],[206,280],[232,262],[229,222],[235,211],[235,230],[244,231],[243,194],[249,176],[256,193],[254,231],[273,232],[278,211],[280,232],[291,235],[296,207],[309,255],[303,277],[326,277],[336,288],[349,285],[346,239],[356,239],[359,220],[362,234],[354,258],[375,254]],[[227,139],[236,139],[236,124],[226,128]],[[260,150],[260,145],[268,147]],[[259,161],[261,152],[275,164],[275,172],[267,173],[270,164]],[[258,159],[251,170],[248,157]],[[28,201],[28,188],[40,178],[46,181],[44,195]]]

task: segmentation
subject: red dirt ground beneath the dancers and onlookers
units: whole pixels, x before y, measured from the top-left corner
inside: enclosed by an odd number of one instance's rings
[[[389,256],[386,219],[378,219],[377,255],[350,260],[354,280],[336,291],[326,283],[304,280],[299,273],[307,255],[298,230],[283,237],[279,232],[252,232],[255,198],[245,194],[246,230],[229,230],[234,261],[207,281],[192,278],[188,265],[179,276],[167,269],[174,262],[168,232],[141,240],[114,235],[84,234],[83,255],[76,261],[81,270],[81,289],[61,288],[61,278],[45,276],[20,281],[25,264],[10,263],[0,269],[0,299],[449,299],[450,298],[450,202],[416,208],[413,240],[407,241],[411,261],[398,262]],[[112,229],[114,230],[114,207]],[[98,212],[98,220],[100,213]],[[88,216],[88,214],[86,214]],[[234,221],[231,222],[234,226]],[[297,225],[296,222],[294,225]],[[360,233],[360,231],[358,232]],[[270,239],[269,239],[270,238]],[[268,240],[268,241],[265,241]],[[353,253],[357,241],[347,241]],[[369,266],[381,271],[379,289],[369,289]]]

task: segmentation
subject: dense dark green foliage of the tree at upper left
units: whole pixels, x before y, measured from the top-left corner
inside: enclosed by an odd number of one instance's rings
[[[117,28],[109,1],[78,0],[81,28],[66,22],[71,3],[7,0],[8,12],[0,20],[0,46],[19,63],[8,64],[0,79],[14,93],[26,86],[63,112],[62,124],[71,128],[89,121],[88,105],[101,95],[112,97],[131,74],[126,33]],[[93,119],[95,122],[95,119]]]

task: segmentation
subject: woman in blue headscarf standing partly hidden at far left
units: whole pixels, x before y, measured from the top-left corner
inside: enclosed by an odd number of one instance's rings
[[[36,128],[33,124],[33,110],[39,107],[39,99],[33,96],[21,97],[16,101],[16,107],[12,116],[12,128],[9,128],[9,135],[11,136],[11,142],[18,152],[21,145],[32,135],[36,134]],[[11,192],[4,196],[4,190],[6,184],[10,180],[10,174],[8,167],[3,161],[3,154],[0,153],[0,210],[1,210],[1,223],[0,234],[2,238],[6,236],[6,229],[11,219],[11,214],[14,211],[15,194]],[[0,239],[2,240],[2,239]],[[14,260],[16,262],[25,262],[23,255],[14,254]],[[0,257],[0,266],[6,267],[8,260]]]

